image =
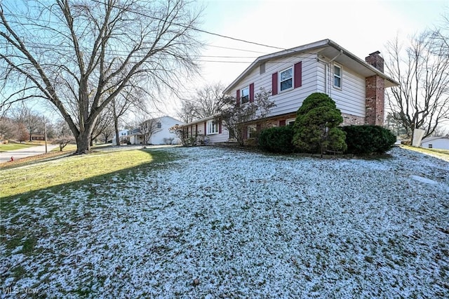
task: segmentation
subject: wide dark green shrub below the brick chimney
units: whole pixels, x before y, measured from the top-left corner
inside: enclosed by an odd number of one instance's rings
[[[344,126],[347,152],[350,154],[383,154],[396,142],[396,136],[381,126]]]

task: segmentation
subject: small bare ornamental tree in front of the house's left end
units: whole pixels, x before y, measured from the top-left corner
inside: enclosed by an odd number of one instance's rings
[[[265,91],[261,88],[260,93],[255,94],[253,102],[236,104],[236,98],[234,97],[223,98],[225,105],[219,118],[222,119],[223,125],[228,131],[234,135],[239,145],[243,146],[244,133],[248,122],[255,119],[264,119],[270,110],[276,106],[272,100],[269,100],[269,95],[271,95],[271,91]]]

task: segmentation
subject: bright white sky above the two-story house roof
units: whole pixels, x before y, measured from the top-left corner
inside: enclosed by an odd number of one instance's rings
[[[206,7],[202,29],[209,32],[280,48],[332,39],[362,59],[374,51],[384,52],[384,45],[396,35],[406,38],[435,27],[443,13],[449,14],[449,0],[200,0],[199,5]],[[203,56],[201,60],[223,62],[201,62],[202,78],[192,81],[191,89],[208,82],[230,84],[257,56],[279,51],[210,34],[202,34],[201,38],[210,45],[203,49],[203,55],[229,58]],[[175,115],[173,107],[167,108],[168,114]]]

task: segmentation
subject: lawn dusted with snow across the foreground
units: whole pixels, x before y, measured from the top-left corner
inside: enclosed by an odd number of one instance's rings
[[[448,162],[165,150],[181,158],[2,210],[1,296],[449,297]]]

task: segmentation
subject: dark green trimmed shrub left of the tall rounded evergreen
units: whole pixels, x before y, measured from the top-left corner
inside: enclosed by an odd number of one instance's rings
[[[290,153],[295,150],[292,140],[293,126],[275,126],[260,132],[259,147],[268,152]]]

